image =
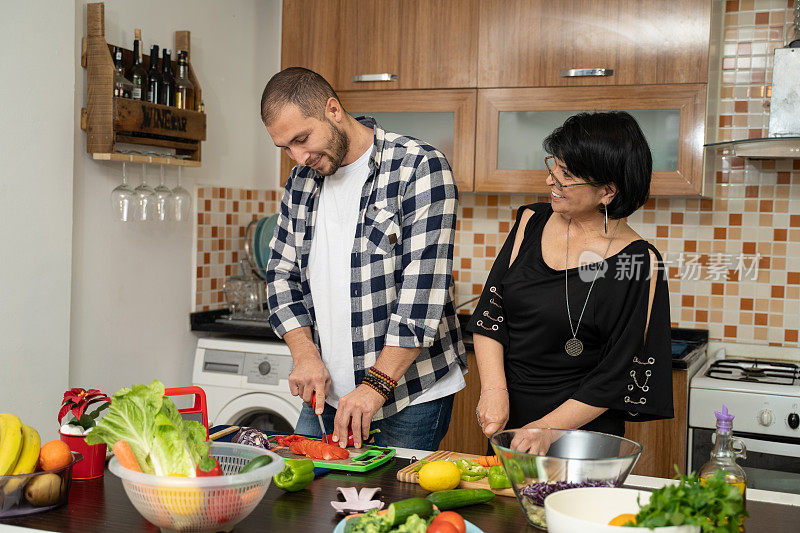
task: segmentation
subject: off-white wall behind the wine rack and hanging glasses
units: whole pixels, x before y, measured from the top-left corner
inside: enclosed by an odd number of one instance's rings
[[[86,32],[85,4],[75,0],[76,57]],[[175,30],[192,32],[208,139],[202,167],[184,170],[188,189],[277,186],[278,154],[265,139],[258,107],[266,80],[280,67],[279,0],[112,0],[105,20],[107,41],[131,47],[134,28],[142,28],[148,51],[152,44],[174,49]],[[86,101],[79,62],[74,75],[77,110]],[[193,224],[115,222],[109,198],[121,165],[92,160],[77,123],[74,139],[70,384],[109,393],[154,378],[188,385],[195,345],[189,331]],[[135,186],[141,165],[132,170]],[[157,173],[150,167],[151,184]],[[170,187],[175,176],[167,169]]]

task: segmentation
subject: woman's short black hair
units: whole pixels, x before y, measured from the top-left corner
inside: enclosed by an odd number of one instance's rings
[[[629,113],[578,113],[553,130],[542,146],[574,176],[598,187],[616,187],[617,194],[606,207],[608,218],[625,218],[647,201],[653,156]]]

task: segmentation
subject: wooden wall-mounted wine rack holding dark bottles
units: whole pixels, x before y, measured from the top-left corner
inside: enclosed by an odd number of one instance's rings
[[[114,96],[113,45],[105,39],[105,5],[88,4],[86,37],[81,65],[86,68],[87,105],[81,109],[81,128],[86,131],[86,151],[97,160],[130,161],[159,165],[199,167],[200,143],[206,139],[206,115],[199,111],[152,104]],[[189,79],[194,84],[195,101],[202,101],[200,82],[191,65],[190,33],[175,32],[175,50],[189,54]],[[145,64],[149,56],[143,54]],[[123,61],[130,64],[131,50],[123,50]],[[177,64],[173,63],[173,72]],[[175,155],[120,153],[118,143],[171,148]]]

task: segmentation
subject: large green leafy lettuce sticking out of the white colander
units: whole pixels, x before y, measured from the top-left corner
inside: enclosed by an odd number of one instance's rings
[[[109,446],[118,440],[130,445],[143,472],[159,476],[194,477],[208,455],[205,428],[181,418],[158,380],[117,391],[111,409],[86,437],[88,444]]]

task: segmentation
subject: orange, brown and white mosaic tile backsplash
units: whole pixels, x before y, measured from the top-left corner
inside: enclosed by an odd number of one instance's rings
[[[791,1],[725,4],[718,140],[766,136],[772,50]],[[713,99],[712,99],[713,100]],[[673,324],[713,339],[798,347],[800,159],[715,157],[713,198],[654,198],[628,222],[661,252]],[[254,218],[277,212],[282,191],[198,190],[196,309],[224,305]],[[462,193],[453,275],[457,304],[480,294],[516,208],[547,197]]]

